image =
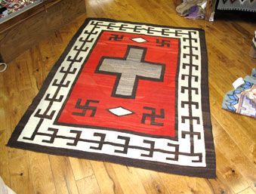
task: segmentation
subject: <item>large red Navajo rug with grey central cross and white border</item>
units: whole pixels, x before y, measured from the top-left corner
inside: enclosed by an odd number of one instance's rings
[[[215,177],[204,31],[85,20],[8,146]]]

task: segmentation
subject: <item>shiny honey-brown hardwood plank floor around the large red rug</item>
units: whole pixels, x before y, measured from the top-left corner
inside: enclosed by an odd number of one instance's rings
[[[45,76],[86,17],[205,29],[216,179],[164,174],[5,146]],[[250,75],[256,67],[256,60],[248,56],[255,29],[256,20],[253,23],[248,18],[214,23],[187,20],[176,14],[169,0],[88,0],[87,14],[25,51],[9,63],[6,72],[0,73],[0,176],[17,194],[255,193],[256,120],[221,109],[224,94],[232,89],[233,81]]]

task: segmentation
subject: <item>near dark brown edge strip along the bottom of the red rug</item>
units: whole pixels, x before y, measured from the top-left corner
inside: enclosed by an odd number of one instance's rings
[[[207,178],[207,179],[214,179],[217,177],[214,168],[211,168],[211,169],[202,168],[202,167],[197,168],[197,167],[191,167],[191,166],[184,167],[181,165],[171,165],[171,166],[166,165],[166,167],[163,167],[164,163],[161,163],[161,162],[147,162],[147,161],[141,161],[140,159],[127,160],[126,158],[122,158],[119,156],[102,155],[102,154],[84,152],[79,150],[75,150],[75,153],[74,153],[74,152],[70,152],[71,150],[64,149],[64,148],[58,148],[58,152],[57,152],[56,149],[53,149],[48,146],[35,145],[34,147],[31,147],[29,146],[29,144],[21,143],[21,142],[16,143],[16,145],[14,145],[13,143],[9,143],[7,146],[17,148],[17,149],[29,150],[32,152],[55,155],[55,156],[66,156],[66,157],[74,157],[79,159],[90,159],[98,162],[113,162],[113,164],[128,165],[134,168],[143,168],[146,170],[158,171],[158,172],[174,174],[174,175],[183,175],[187,177],[200,177],[200,178]],[[81,154],[78,154],[77,152],[81,152]]]

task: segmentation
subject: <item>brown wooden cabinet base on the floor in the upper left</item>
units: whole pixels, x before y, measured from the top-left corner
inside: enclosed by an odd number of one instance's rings
[[[85,0],[49,0],[0,24],[2,60],[8,63],[83,13]]]

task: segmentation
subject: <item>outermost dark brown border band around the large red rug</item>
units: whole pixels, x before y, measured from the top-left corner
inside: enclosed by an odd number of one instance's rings
[[[17,138],[20,136],[21,131],[23,130],[24,123],[28,122],[30,115],[34,112],[35,108],[38,106],[42,96],[45,94],[45,91],[48,88],[48,85],[51,83],[51,79],[54,77],[54,74],[57,72],[62,61],[65,59],[66,55],[69,53],[72,45],[76,42],[76,38],[82,33],[82,30],[91,20],[100,20],[100,21],[109,21],[109,22],[122,22],[122,23],[133,23],[140,25],[148,26],[158,26],[162,28],[173,28],[173,29],[188,29],[188,30],[197,30],[199,31],[200,36],[200,45],[201,45],[201,54],[202,54],[202,115],[204,122],[204,134],[205,134],[205,152],[206,152],[206,167],[190,167],[190,166],[181,166],[181,165],[170,165],[161,162],[150,162],[140,159],[128,159],[120,156],[109,156],[106,154],[92,153],[79,151],[75,149],[64,149],[64,148],[55,148],[48,146],[41,146],[32,143],[23,143],[18,142]],[[202,52],[202,48],[205,50]],[[206,98],[207,103],[205,103],[204,98]],[[208,94],[208,58],[205,45],[205,31],[204,29],[199,28],[187,28],[187,27],[175,27],[175,26],[161,26],[151,23],[136,23],[130,21],[122,20],[113,20],[100,17],[89,17],[85,20],[85,23],[79,28],[78,32],[72,37],[71,41],[61,54],[60,58],[52,67],[51,71],[48,73],[48,76],[45,79],[45,82],[42,85],[42,88],[39,90],[39,93],[32,100],[31,105],[26,110],[23,117],[18,122],[17,127],[14,129],[13,134],[11,134],[10,140],[7,143],[7,146],[19,148],[19,149],[28,149],[35,152],[43,152],[47,154],[54,154],[58,156],[72,156],[81,159],[93,159],[103,162],[114,162],[121,165],[129,165],[138,168],[145,168],[154,171],[161,171],[170,174],[180,174],[190,177],[205,177],[205,178],[215,178],[216,177],[216,162],[215,162],[215,153],[214,153],[214,141],[212,136],[212,127],[211,127],[211,115],[210,115],[210,106],[209,106],[209,94]],[[205,125],[206,123],[206,125]],[[209,142],[210,141],[210,142]],[[32,145],[32,146],[31,146]]]

